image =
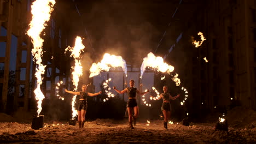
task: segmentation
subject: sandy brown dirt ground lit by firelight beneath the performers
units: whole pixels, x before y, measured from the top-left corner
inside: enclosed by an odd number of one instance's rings
[[[255,111],[241,108],[229,112],[228,131],[215,130],[215,123],[174,123],[165,130],[161,120],[147,125],[147,119],[138,119],[132,130],[126,119],[96,119],[82,129],[68,122],[45,122],[44,128],[33,130],[31,122],[11,122],[15,118],[4,113],[0,117],[0,143],[256,143]]]

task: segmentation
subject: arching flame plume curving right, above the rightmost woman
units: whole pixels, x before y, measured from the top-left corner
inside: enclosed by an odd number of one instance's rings
[[[143,63],[141,64],[141,78],[147,67],[156,69],[162,73],[167,72],[168,74],[174,70],[172,65],[164,63],[164,59],[162,57],[155,57],[152,52],[148,53],[148,56],[143,58]]]

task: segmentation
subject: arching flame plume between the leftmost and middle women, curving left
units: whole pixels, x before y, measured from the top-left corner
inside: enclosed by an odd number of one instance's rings
[[[109,71],[110,67],[122,67],[125,75],[127,76],[126,62],[121,56],[110,55],[105,53],[101,62],[93,63],[90,68],[90,76],[93,77],[99,75],[101,71]]]

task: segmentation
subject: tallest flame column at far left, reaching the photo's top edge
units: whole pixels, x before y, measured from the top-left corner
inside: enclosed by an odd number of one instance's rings
[[[37,102],[37,115],[42,111],[42,101],[44,99],[44,94],[40,90],[40,85],[42,85],[43,77],[45,71],[45,66],[42,64],[43,55],[43,39],[40,38],[40,33],[46,26],[46,21],[50,20],[51,12],[54,10],[55,0],[37,0],[34,1],[31,6],[32,20],[29,24],[30,29],[28,29],[27,34],[31,37],[33,43],[32,55],[34,57],[34,62],[36,62],[36,73],[37,78],[36,89],[34,94],[36,95]]]

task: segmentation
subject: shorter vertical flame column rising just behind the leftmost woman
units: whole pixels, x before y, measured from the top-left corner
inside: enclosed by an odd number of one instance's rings
[[[82,43],[82,38],[77,37],[75,38],[75,46],[74,47],[68,46],[67,49],[65,49],[65,51],[68,50],[72,52],[70,57],[73,57],[75,60],[75,66],[72,67],[72,69],[74,69],[74,71],[72,72],[72,75],[73,75],[72,82],[74,85],[74,91],[77,91],[79,77],[83,75],[83,67],[81,65],[81,61],[79,57],[80,57],[80,53],[84,50],[84,47],[85,46]],[[74,118],[77,115],[77,111],[75,110],[75,107],[74,107],[76,98],[77,96],[74,95],[72,99],[72,118]]]

